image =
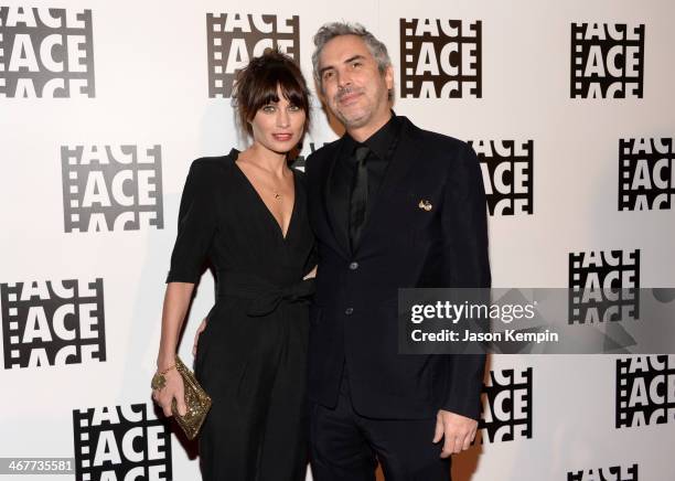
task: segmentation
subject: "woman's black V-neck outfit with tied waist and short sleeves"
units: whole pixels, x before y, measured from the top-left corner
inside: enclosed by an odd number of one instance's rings
[[[195,160],[179,213],[167,282],[216,270],[217,299],[195,374],[213,399],[200,432],[208,481],[304,480],[308,297],[314,264],[303,174],[283,238],[244,172],[238,151]]]

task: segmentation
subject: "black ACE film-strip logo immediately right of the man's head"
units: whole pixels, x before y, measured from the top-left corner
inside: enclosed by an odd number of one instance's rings
[[[400,19],[400,96],[482,97],[482,22]]]

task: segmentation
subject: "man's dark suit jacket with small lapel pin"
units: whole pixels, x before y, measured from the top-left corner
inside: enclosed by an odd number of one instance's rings
[[[440,408],[478,419],[485,356],[398,354],[396,316],[398,288],[490,287],[480,165],[467,143],[399,120],[398,146],[355,253],[328,202],[344,141],[307,159],[319,248],[308,394],[335,406],[346,361],[352,402],[363,416],[418,419]]]

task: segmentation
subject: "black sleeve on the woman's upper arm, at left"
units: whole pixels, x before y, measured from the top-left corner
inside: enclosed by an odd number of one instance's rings
[[[217,225],[215,173],[214,165],[201,159],[190,167],[167,282],[196,284],[203,272]]]

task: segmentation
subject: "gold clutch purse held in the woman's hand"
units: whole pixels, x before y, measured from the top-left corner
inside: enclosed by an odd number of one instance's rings
[[[185,436],[188,436],[188,439],[194,439],[211,408],[211,397],[208,397],[208,394],[200,386],[200,383],[194,378],[194,374],[185,367],[185,364],[183,364],[178,355],[175,356],[175,368],[183,378],[185,407],[188,411],[185,416],[179,415],[175,399],[173,399],[171,404],[171,410],[173,411],[173,417],[176,423],[183,429]],[[160,373],[152,377],[153,389],[163,387],[164,383],[164,376]]]

